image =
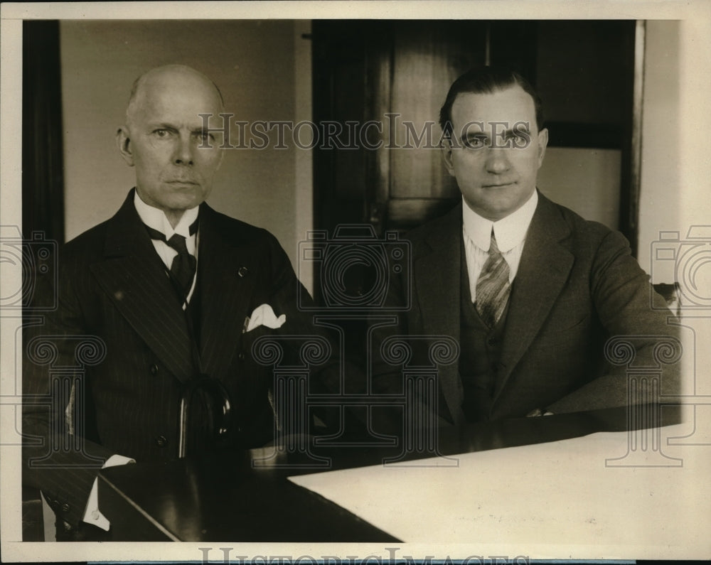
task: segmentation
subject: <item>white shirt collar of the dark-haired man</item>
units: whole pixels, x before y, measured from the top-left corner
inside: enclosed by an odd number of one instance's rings
[[[496,222],[487,220],[469,208],[462,196],[461,219],[464,233],[476,247],[488,252],[491,243],[491,228],[496,235],[496,244],[502,253],[510,251],[525,240],[528,226],[533,219],[533,212],[538,205],[538,190],[533,190],[530,198],[515,212]]]

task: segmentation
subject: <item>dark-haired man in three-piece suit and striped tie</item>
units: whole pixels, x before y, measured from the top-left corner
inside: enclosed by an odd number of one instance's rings
[[[424,399],[433,421],[626,405],[626,367],[606,363],[606,340],[631,336],[636,362],[661,365],[654,347],[675,328],[625,238],[536,188],[548,132],[533,87],[510,70],[471,70],[451,86],[440,124],[462,201],[408,235],[412,279],[392,281],[389,300],[405,306],[411,284],[412,303],[387,330],[459,344],[458,362],[439,367],[437,401]],[[397,393],[402,377],[385,357],[375,355],[375,390]],[[678,392],[677,365],[661,386]]]

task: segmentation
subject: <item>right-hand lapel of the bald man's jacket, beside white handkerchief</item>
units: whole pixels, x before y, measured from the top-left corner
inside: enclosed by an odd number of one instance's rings
[[[252,250],[235,242],[217,212],[203,204],[200,214],[201,359],[208,375],[223,377],[250,314],[257,265]]]

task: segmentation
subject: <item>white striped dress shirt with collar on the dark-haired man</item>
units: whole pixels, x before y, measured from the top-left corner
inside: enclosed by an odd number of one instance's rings
[[[518,263],[523,253],[528,226],[533,219],[538,205],[538,191],[533,194],[518,210],[501,218],[497,222],[487,220],[471,210],[462,197],[462,233],[464,235],[464,251],[466,253],[466,271],[469,274],[469,292],[471,301],[476,302],[476,281],[488,258],[488,248],[491,244],[491,229],[496,236],[496,244],[503,259],[508,264],[508,280],[513,282],[518,271]]]

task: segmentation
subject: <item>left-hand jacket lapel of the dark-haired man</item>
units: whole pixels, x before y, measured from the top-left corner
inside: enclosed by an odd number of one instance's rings
[[[427,237],[430,251],[415,259],[415,284],[427,335],[447,335],[459,343],[461,204],[439,220]],[[461,412],[458,364],[439,371],[439,383],[455,423]]]

